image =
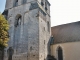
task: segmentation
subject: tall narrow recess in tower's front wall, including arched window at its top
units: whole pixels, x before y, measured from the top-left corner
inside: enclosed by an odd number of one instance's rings
[[[13,44],[14,48],[16,50],[16,54],[19,53],[19,42],[20,42],[20,36],[21,36],[21,21],[22,21],[22,16],[18,14],[15,17],[15,22],[14,22],[14,37],[13,37]]]

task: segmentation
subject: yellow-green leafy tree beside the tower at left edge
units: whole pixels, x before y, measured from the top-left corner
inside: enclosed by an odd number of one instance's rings
[[[9,25],[5,17],[0,14],[0,48],[7,47],[8,40],[9,40]]]

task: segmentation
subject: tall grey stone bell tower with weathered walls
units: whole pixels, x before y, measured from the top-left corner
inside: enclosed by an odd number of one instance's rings
[[[47,60],[50,3],[47,0],[6,0],[4,12],[10,24],[12,60]]]

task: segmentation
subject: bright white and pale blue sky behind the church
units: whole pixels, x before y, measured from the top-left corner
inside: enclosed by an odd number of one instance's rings
[[[80,0],[48,0],[51,4],[51,26],[80,21]],[[6,0],[0,0],[0,12]]]

